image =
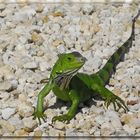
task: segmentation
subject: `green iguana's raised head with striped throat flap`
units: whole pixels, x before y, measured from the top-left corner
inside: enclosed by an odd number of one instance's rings
[[[77,73],[77,71],[84,65],[86,58],[79,52],[60,54],[56,61],[51,78],[62,88],[67,87],[71,78]]]

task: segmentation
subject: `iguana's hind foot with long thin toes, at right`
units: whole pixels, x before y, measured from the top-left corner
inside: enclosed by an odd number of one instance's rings
[[[104,104],[108,108],[108,106],[111,103],[113,104],[115,111],[118,111],[120,108],[123,108],[125,112],[129,111],[129,109],[125,105],[124,101],[120,97],[118,97],[114,94],[112,96],[106,98]],[[118,106],[118,109],[116,108],[116,105]]]

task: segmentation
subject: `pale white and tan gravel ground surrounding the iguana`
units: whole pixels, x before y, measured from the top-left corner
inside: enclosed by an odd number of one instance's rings
[[[0,136],[140,136],[140,18],[136,39],[107,86],[130,111],[107,110],[103,101],[80,104],[69,124],[53,116],[69,103],[45,98],[46,123],[32,113],[37,95],[62,52],[78,51],[88,61],[80,70],[97,72],[131,33],[140,4],[0,4]]]

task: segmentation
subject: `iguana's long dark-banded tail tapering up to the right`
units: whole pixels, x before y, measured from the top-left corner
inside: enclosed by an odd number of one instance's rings
[[[116,65],[123,60],[124,54],[129,51],[132,46],[133,40],[135,39],[135,22],[140,15],[140,10],[138,14],[132,20],[132,32],[128,40],[117,49],[117,51],[109,58],[105,66],[97,72],[98,76],[107,84],[113,72],[115,72]]]

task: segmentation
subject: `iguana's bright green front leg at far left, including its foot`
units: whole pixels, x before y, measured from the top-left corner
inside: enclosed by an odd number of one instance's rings
[[[38,119],[39,124],[41,124],[41,119],[45,122],[45,115],[43,112],[43,102],[44,102],[44,97],[47,96],[52,89],[53,85],[51,83],[47,84],[38,94],[38,100],[37,100],[37,108],[35,109],[33,115],[33,119]]]

